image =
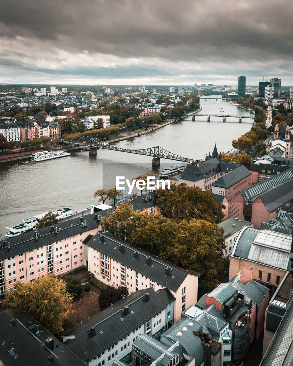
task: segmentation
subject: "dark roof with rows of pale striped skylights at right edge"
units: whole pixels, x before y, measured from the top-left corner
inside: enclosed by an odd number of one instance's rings
[[[244,201],[254,202],[260,196],[266,208],[272,212],[293,198],[293,169],[286,170],[262,182],[240,191]]]

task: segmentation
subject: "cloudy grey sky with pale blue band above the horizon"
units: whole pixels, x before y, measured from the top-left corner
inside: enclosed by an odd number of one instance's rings
[[[0,83],[293,85],[292,0],[2,0]]]

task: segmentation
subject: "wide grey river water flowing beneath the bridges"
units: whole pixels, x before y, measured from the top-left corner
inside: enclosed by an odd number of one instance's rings
[[[215,98],[216,96],[211,96]],[[253,113],[217,100],[201,101],[200,113],[252,116]],[[250,130],[252,119],[222,117],[188,117],[181,122],[150,132],[140,137],[115,142],[127,149],[161,146],[175,154],[188,158],[204,158],[212,152],[215,143],[218,152],[227,152],[233,139]],[[161,168],[176,164],[161,159]],[[71,152],[71,156],[44,162],[17,161],[0,165],[0,234],[5,227],[20,223],[35,214],[70,207],[74,211],[98,204],[93,193],[99,188],[115,186],[116,176],[132,179],[144,173],[158,174],[160,167],[152,167],[152,158],[136,154],[99,149],[97,155],[88,151]],[[126,193],[124,193],[124,196]]]

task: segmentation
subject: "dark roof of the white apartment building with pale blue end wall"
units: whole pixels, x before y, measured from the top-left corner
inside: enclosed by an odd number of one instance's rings
[[[149,293],[149,301],[145,299],[146,293]],[[165,309],[174,299],[167,288],[138,290],[68,330],[62,336],[75,336],[75,339],[64,344],[82,360],[92,359]],[[128,306],[129,315],[124,314],[124,306]],[[91,326],[96,328],[93,337],[90,336]]]

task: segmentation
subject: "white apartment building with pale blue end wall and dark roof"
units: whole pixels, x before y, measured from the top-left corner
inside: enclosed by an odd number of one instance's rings
[[[174,322],[174,296],[145,288],[63,333],[63,343],[89,366],[127,362],[138,336],[157,338]],[[113,326],[115,331],[113,331]]]

